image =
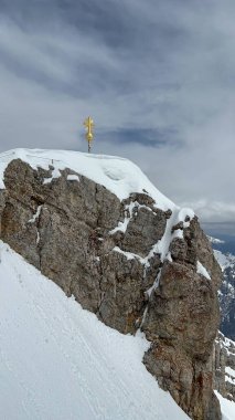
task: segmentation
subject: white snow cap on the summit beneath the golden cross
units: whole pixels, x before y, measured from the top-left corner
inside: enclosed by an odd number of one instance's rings
[[[13,149],[0,154],[0,189],[4,188],[3,174],[13,159],[21,159],[32,168],[54,167],[53,177],[60,177],[60,170],[70,168],[93,181],[103,185],[120,200],[131,192],[147,192],[157,202],[159,209],[178,209],[164,197],[130,160],[115,156],[84,154],[71,150]],[[52,179],[45,180],[45,183]]]

